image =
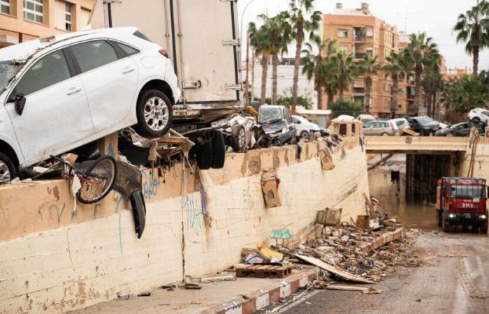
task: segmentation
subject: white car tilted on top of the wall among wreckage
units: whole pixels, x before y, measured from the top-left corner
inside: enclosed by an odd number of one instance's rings
[[[170,128],[180,97],[166,50],[135,27],[97,29],[0,49],[0,183],[17,169],[134,126]]]

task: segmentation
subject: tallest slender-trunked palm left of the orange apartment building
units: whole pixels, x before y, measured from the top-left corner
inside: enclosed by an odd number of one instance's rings
[[[310,38],[321,26],[322,13],[314,11],[314,0],[291,0],[289,3],[290,22],[295,31],[295,63],[292,85],[292,112],[295,113],[295,105],[298,98],[300,52],[305,39],[305,31],[310,32]]]

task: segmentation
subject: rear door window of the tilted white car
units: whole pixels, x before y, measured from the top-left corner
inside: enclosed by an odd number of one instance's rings
[[[114,48],[105,40],[96,40],[74,45],[71,46],[71,51],[75,55],[82,73],[117,61],[118,59]]]

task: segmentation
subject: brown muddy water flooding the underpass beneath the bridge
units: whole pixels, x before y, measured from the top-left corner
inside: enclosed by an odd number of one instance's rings
[[[405,156],[394,155],[384,165],[370,170],[370,195],[377,197],[381,207],[388,209],[406,227],[436,230],[436,210],[434,205],[421,201],[406,200]],[[398,183],[391,182],[391,171],[400,171]]]

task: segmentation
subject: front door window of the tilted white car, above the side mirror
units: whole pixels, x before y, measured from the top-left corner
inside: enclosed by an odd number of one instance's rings
[[[61,50],[52,52],[34,63],[22,76],[15,91],[27,96],[70,78],[68,63]]]

